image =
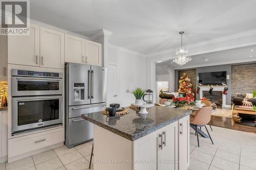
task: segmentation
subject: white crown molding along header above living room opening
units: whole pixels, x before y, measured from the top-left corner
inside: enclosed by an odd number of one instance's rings
[[[233,35],[220,37],[220,38],[215,38],[215,39],[211,39],[211,40],[208,40],[208,41],[202,41],[202,42],[195,43],[195,44],[189,44],[189,45],[186,45],[185,48],[187,48],[187,49],[195,48],[195,47],[200,47],[200,46],[203,46],[203,45],[219,43],[219,42],[223,42],[223,41],[227,41],[227,40],[232,40],[232,39],[237,39],[237,38],[242,38],[242,37],[252,36],[252,35],[256,35],[256,30],[242,32],[242,33],[233,34]],[[242,47],[242,46],[239,46],[239,45],[237,45],[237,46]],[[172,48],[170,50],[165,50],[165,51],[161,51],[161,52],[157,52],[157,53],[147,54],[147,55],[144,55],[144,56],[145,57],[155,57],[155,56],[165,55],[165,54],[168,54],[168,53],[175,53],[176,50],[177,50],[177,48]]]

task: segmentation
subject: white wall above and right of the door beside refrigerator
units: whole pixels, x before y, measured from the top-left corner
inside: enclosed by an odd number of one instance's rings
[[[118,97],[121,107],[130,106],[135,102],[132,93],[127,93],[136,87],[145,88],[145,58],[139,54],[111,45],[109,47],[109,64],[118,66]]]

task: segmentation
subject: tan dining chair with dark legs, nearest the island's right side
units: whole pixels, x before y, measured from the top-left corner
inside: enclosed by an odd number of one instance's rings
[[[210,122],[211,111],[212,111],[212,107],[203,107],[197,111],[197,114],[195,115],[195,117],[190,118],[190,124],[195,126],[198,147],[199,147],[198,127],[203,127],[203,126],[205,127],[205,129],[210,137],[211,143],[214,144],[214,142],[212,141],[211,136],[209,134],[209,131],[206,128],[206,124],[208,124]]]

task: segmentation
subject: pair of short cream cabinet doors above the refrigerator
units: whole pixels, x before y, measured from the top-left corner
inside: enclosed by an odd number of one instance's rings
[[[102,66],[101,44],[65,34],[65,62]]]

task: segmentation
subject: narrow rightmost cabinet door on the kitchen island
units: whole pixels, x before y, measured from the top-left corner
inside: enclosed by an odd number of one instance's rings
[[[189,166],[189,116],[179,120],[179,170]]]

